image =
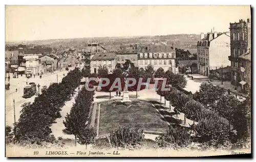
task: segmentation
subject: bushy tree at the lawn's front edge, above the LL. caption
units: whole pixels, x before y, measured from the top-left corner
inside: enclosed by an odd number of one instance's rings
[[[121,126],[110,132],[110,142],[113,147],[136,147],[144,140],[143,130]]]

